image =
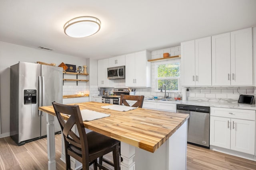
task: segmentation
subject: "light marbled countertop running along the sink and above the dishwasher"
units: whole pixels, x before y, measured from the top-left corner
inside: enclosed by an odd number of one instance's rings
[[[172,103],[172,104],[184,104],[192,106],[208,106],[208,107],[224,107],[224,108],[234,108],[234,109],[249,109],[256,110],[255,104],[240,104],[237,100],[232,99],[198,99],[198,100],[178,100],[178,101],[161,101],[161,100],[148,100],[145,98],[144,101],[147,102],[162,102],[162,103]]]

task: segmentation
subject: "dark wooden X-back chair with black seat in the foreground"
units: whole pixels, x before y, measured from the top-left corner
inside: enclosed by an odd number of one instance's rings
[[[52,105],[64,136],[66,170],[70,170],[70,156],[82,163],[83,170],[89,170],[91,164],[94,164],[94,170],[97,170],[97,166],[100,169],[108,170],[97,163],[97,158],[100,158],[109,152],[113,152],[114,169],[120,170],[120,141],[94,131],[86,133],[78,105],[71,106],[58,104],[56,102],[52,102]],[[60,113],[69,115],[69,119],[65,122]],[[72,127],[75,124],[79,136],[72,131]]]

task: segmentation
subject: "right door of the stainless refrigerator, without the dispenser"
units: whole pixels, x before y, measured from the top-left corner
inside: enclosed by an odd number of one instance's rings
[[[42,76],[42,106],[50,106],[52,102],[62,103],[62,80],[63,68],[56,66],[41,65]],[[41,136],[46,135],[46,114],[42,112]],[[54,117],[54,131],[61,131],[59,122]]]

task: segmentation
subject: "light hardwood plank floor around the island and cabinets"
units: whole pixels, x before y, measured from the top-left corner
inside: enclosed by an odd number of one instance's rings
[[[61,135],[55,135],[56,169],[64,170],[60,160]],[[111,157],[109,154],[108,157]],[[90,167],[93,169],[93,167]],[[47,170],[46,138],[18,147],[10,137],[0,139],[0,170]],[[112,168],[113,169],[113,168]],[[188,145],[187,170],[256,170],[256,162]]]

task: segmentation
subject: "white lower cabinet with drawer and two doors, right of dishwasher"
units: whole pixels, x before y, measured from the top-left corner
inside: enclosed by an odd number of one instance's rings
[[[211,107],[210,145],[254,154],[255,111]]]

